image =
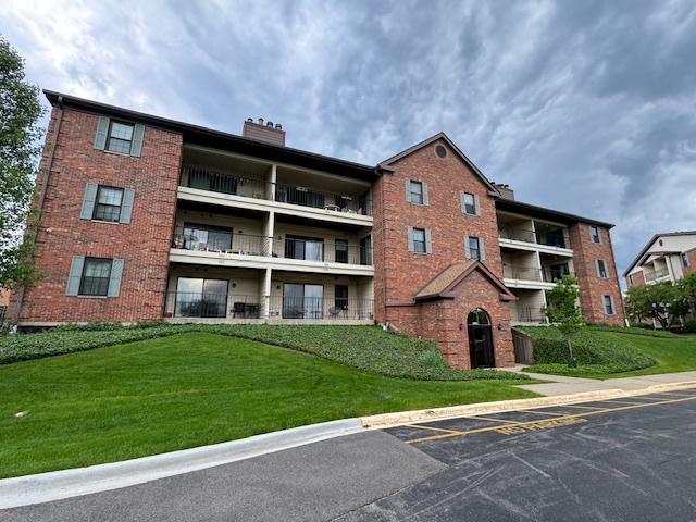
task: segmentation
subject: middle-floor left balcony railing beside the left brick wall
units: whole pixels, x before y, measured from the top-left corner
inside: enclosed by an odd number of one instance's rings
[[[233,234],[232,229],[203,226],[177,226],[172,248],[209,252],[271,256],[272,238],[250,234]]]

